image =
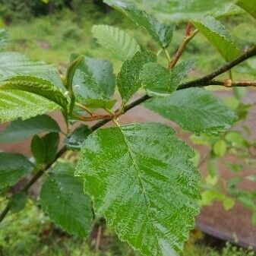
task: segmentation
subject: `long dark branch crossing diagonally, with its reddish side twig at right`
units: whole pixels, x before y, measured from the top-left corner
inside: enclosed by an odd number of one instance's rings
[[[204,87],[210,84],[217,84],[217,85],[224,85],[225,81],[216,81],[213,80],[213,78],[217,77],[220,74],[225,73],[226,71],[229,71],[231,68],[235,67],[235,65],[239,65],[239,63],[244,62],[246,59],[251,58],[252,56],[256,55],[256,46],[249,49],[247,52],[245,52],[243,55],[241,55],[239,58],[235,58],[232,62],[228,62],[222,67],[218,68],[216,71],[213,71],[213,73],[207,74],[204,77],[201,77],[198,80],[189,81],[187,83],[181,84],[178,90],[182,90],[189,87]],[[232,86],[255,86],[255,81],[240,81],[240,82],[232,82]],[[124,114],[125,112],[128,112],[130,109],[133,109],[135,106],[144,103],[144,101],[149,100],[150,96],[144,95],[139,97],[137,100],[134,100],[130,104],[124,106],[122,108],[122,112],[118,110],[115,111],[115,113],[119,113],[119,115]],[[115,114],[116,115],[116,114]],[[98,128],[101,128],[103,125],[106,125],[106,123],[110,122],[113,118],[116,116],[108,116],[108,119],[103,119],[100,122],[97,122],[95,125],[91,126],[92,131],[96,131]],[[40,169],[36,175],[33,176],[33,178],[30,180],[30,182],[27,183],[27,185],[24,186],[21,191],[24,191],[27,193],[27,191],[30,189],[30,187],[38,180],[40,177],[52,166],[53,163],[55,163],[56,160],[60,156],[62,156],[63,153],[65,153],[67,148],[64,146],[61,150],[58,151],[58,153],[55,156],[55,159],[52,160],[51,163],[47,164],[47,166],[44,169]],[[0,223],[5,218],[6,214],[10,210],[9,205],[5,207],[5,209],[0,214]]]

